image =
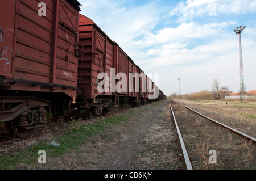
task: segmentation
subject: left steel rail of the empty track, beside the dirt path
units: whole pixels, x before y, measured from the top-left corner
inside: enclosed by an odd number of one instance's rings
[[[176,118],[175,118],[175,115],[174,115],[174,111],[172,110],[170,100],[169,100],[169,104],[170,104],[170,107],[171,107],[172,116],[174,117],[174,122],[175,122],[175,125],[176,125],[177,134],[179,136],[180,145],[181,145],[181,149],[182,149],[182,152],[183,152],[183,157],[184,157],[184,160],[185,160],[185,165],[186,165],[188,170],[193,170],[192,166],[191,166],[191,163],[190,163],[190,160],[189,160],[189,157],[188,157],[187,149],[185,148],[185,144],[184,144],[183,138],[182,138],[181,133],[180,133],[179,126],[177,125],[177,121],[176,121]]]

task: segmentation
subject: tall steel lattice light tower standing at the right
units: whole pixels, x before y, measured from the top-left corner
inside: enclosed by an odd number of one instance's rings
[[[242,44],[241,44],[241,32],[245,29],[245,26],[236,27],[234,32],[239,34],[239,77],[240,77],[240,101],[245,100],[245,82],[243,79],[243,56],[242,56]]]

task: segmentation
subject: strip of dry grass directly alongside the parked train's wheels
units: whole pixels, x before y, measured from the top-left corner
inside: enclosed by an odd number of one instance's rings
[[[26,150],[38,144],[39,142],[51,142],[52,140],[57,140],[64,134],[72,132],[73,129],[83,127],[95,123],[104,123],[104,120],[108,117],[117,117],[123,115],[123,113],[130,110],[130,107],[115,110],[112,114],[107,116],[93,117],[92,119],[82,119],[86,117],[81,114],[79,117],[69,114],[64,117],[59,117],[58,119],[51,117],[47,119],[47,123],[42,128],[36,128],[30,137],[18,138],[13,140],[8,134],[6,141],[1,143],[0,147],[0,157],[4,155],[14,155],[17,151]],[[86,127],[85,127],[86,128]],[[0,125],[1,135],[5,136],[6,130],[5,125]]]

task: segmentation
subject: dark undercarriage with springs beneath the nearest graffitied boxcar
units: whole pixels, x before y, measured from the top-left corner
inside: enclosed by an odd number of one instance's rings
[[[34,97],[0,97],[1,122],[14,137],[30,136],[33,128],[46,123],[47,100]]]

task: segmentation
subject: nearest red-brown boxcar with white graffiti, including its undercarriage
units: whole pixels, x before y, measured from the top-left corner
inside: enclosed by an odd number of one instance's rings
[[[79,6],[76,0],[1,1],[0,121],[14,120],[20,136],[44,123],[53,98],[55,113],[76,99]]]

